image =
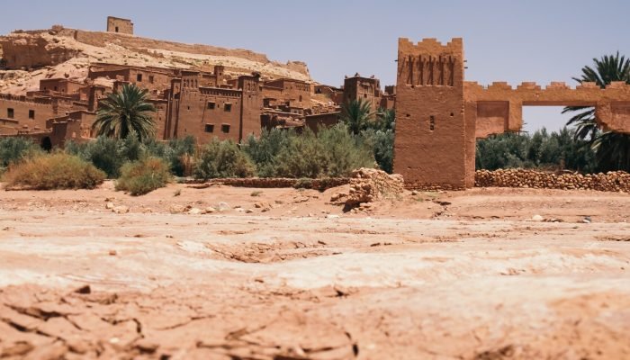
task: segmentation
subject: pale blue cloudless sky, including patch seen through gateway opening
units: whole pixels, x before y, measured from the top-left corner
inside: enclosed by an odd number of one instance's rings
[[[356,72],[395,83],[398,38],[464,38],[465,79],[482,85],[564,81],[592,58],[630,55],[630,1],[11,0],[0,33],[68,28],[104,31],[108,15],[130,18],[137,36],[251,49],[302,60],[311,77],[342,85]],[[563,127],[562,108],[526,107],[524,130]]]

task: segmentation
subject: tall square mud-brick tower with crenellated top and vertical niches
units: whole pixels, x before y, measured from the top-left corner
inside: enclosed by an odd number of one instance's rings
[[[464,188],[462,39],[399,40],[394,172],[408,187]]]

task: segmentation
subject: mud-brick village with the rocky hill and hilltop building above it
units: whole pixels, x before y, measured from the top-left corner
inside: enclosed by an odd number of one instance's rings
[[[344,102],[365,99],[375,111],[395,99],[395,86],[383,91],[374,76],[322,85],[302,62],[139,38],[130,20],[112,16],[106,31],[14,31],[0,37],[0,49],[0,137],[46,149],[94,138],[99,101],[124,84],[148,91],[158,139],[192,135],[198,143],[240,141],[263,128],[317,130],[338,122]]]

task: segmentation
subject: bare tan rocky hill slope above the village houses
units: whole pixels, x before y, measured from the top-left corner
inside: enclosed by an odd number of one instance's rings
[[[308,67],[301,61],[282,64],[247,49],[184,44],[59,25],[49,30],[14,31],[0,36],[0,57],[0,93],[8,94],[37,90],[42,78],[82,81],[93,62],[205,71],[223,65],[234,76],[257,71],[263,78],[311,81]]]

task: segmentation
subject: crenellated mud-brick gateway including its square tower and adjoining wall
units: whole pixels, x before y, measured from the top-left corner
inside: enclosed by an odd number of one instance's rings
[[[483,87],[464,81],[464,44],[435,39],[398,42],[394,172],[409,188],[474,185],[475,139],[523,124],[523,105],[594,106],[599,125],[630,133],[630,85],[594,83],[544,89],[523,83],[513,89],[495,82]]]

